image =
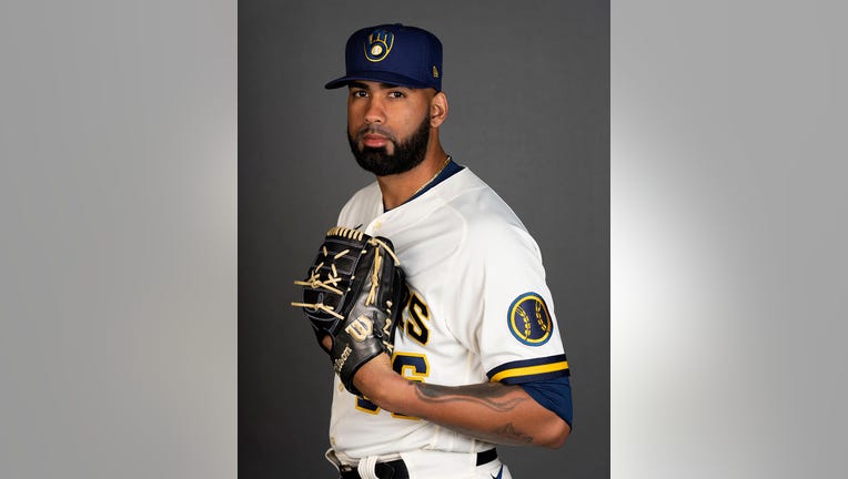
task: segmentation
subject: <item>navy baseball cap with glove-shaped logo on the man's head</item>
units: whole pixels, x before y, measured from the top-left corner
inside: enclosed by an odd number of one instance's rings
[[[370,80],[442,91],[442,42],[416,27],[395,23],[357,30],[347,39],[344,64],[346,74],[325,89]]]

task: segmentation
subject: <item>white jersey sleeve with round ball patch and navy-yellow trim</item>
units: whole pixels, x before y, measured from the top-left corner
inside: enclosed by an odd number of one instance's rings
[[[461,326],[491,381],[525,384],[568,375],[554,303],[536,242],[519,224],[478,222],[468,231],[479,304]]]

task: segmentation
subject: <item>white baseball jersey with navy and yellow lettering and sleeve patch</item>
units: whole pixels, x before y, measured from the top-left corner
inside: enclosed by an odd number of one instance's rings
[[[444,386],[519,384],[568,368],[538,247],[468,169],[388,212],[375,182],[347,202],[339,225],[394,244],[411,295],[392,357],[404,377]],[[350,394],[337,376],[330,441],[347,462],[420,449],[494,447],[377,409]]]

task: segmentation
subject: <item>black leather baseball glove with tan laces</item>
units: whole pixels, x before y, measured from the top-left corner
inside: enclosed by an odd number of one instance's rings
[[[330,358],[342,384],[353,386],[356,371],[382,353],[390,356],[401,309],[407,297],[400,262],[387,238],[359,230],[330,230],[303,286],[303,308],[319,344],[330,336]]]

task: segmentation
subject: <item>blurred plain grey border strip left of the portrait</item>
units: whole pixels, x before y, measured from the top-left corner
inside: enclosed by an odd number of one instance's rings
[[[0,7],[0,477],[236,476],[236,20]]]

